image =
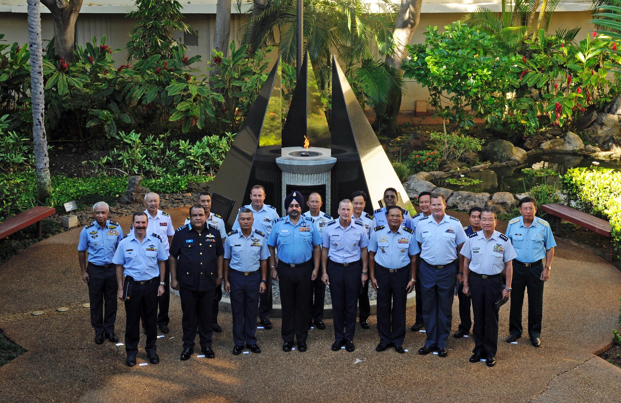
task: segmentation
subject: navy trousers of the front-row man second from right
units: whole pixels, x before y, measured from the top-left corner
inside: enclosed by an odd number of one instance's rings
[[[446,348],[453,321],[453,292],[457,281],[455,263],[442,269],[420,263],[420,291],[423,299],[423,319],[427,348]]]

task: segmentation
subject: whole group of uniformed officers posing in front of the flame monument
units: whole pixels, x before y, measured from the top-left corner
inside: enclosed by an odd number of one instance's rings
[[[469,211],[471,225],[462,227],[445,213],[441,193],[422,192],[421,212],[414,217],[397,206],[394,188],[384,191],[384,207],[374,215],[365,212],[365,192],[354,192],[338,203],[337,219],[320,210],[318,193],[305,201],[301,192],[291,192],[284,200],[284,217],[265,204],[262,186],[254,186],[250,198],[226,233],[222,218],[211,212],[211,195],[201,192],[199,204],[175,231],[170,215],[159,209],[158,195],[148,193],[147,209],[132,215],[126,237],[119,223],[108,219],[107,204],[95,204],[96,220],[83,228],[78,245],[95,342],[119,341],[114,334],[117,297],[127,317],[127,365],[136,365],[141,318],[148,359],[158,363],[157,327],[169,332],[173,288],[183,310],[181,360],[193,355],[197,333],[204,356],[214,358],[212,332],[222,332],[217,313],[224,283],[233,316],[233,354],[244,348],[260,353],[256,317],[263,328],[272,327],[271,280],[277,279],[283,351],[293,350],[294,343],[306,351],[309,328],[325,328],[326,285],[333,308],[332,350],[354,351],[356,309],[361,327],[369,328],[369,283],[377,292],[376,351],[392,346],[405,352],[407,294],[413,290],[417,303],[411,330],[424,327],[426,334],[419,354],[448,355],[453,296],[458,296],[461,323],[453,336],[468,335],[472,306],[475,346],[469,361],[494,366],[499,307],[513,291],[507,342],[515,342],[522,335],[525,290],[528,335],[533,346],[540,346],[543,284],[556,243],[550,225],[536,217],[537,202],[531,197],[519,201],[521,216],[510,220],[505,234],[496,231],[496,214],[479,207]],[[309,211],[302,214],[305,202]]]

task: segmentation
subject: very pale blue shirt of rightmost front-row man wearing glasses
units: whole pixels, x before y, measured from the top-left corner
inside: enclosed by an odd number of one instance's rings
[[[494,231],[487,240],[483,230],[469,235],[460,253],[470,259],[468,268],[479,274],[501,273],[504,264],[517,256],[506,235]]]

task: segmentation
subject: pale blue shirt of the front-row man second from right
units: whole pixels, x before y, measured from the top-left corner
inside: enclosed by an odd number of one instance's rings
[[[420,242],[420,257],[430,265],[448,265],[457,258],[457,246],[466,242],[460,220],[445,214],[440,224],[433,215],[420,219],[416,225],[416,240]]]

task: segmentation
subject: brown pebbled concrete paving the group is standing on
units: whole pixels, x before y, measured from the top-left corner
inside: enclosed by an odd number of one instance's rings
[[[169,212],[175,225],[183,224],[186,209]],[[129,220],[121,219],[124,230]],[[501,342],[494,368],[468,362],[471,337],[450,337],[446,358],[418,355],[424,333],[409,331],[408,353],[377,353],[373,316],[370,330],[357,328],[353,353],[330,350],[331,320],[325,330],[311,331],[306,353],[284,353],[280,320],[274,319],[274,328],[258,330],[263,353],[233,356],[228,312],[220,312],[224,333],[214,333],[216,358],[179,361],[178,297],[171,297],[171,332],[158,339],[161,363],[127,368],[124,346],[93,342],[89,310],[81,307],[88,292],[79,275],[79,231],[48,238],[0,266],[0,327],[30,350],[0,367],[0,402],[621,401],[621,369],[594,355],[609,346],[617,327],[621,273],[562,240],[544,294],[542,347],[524,339]],[[60,306],[70,310],[56,312]],[[457,307],[455,301],[453,331]],[[45,314],[30,315],[37,309]],[[501,339],[508,334],[508,315],[506,304]],[[412,308],[407,323],[413,322]],[[119,304],[121,339],[124,327]],[[138,353],[139,363],[146,358]]]

